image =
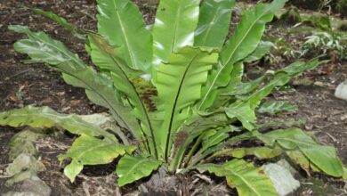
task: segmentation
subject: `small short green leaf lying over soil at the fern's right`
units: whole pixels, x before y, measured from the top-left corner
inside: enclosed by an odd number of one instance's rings
[[[297,106],[290,104],[289,102],[264,102],[259,107],[258,112],[278,114],[279,112],[294,113],[297,110]]]

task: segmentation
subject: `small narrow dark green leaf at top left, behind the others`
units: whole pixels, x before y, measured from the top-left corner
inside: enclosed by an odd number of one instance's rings
[[[77,38],[85,40],[85,36],[80,34],[78,29],[74,28],[72,24],[70,24],[66,19],[62,18],[61,16],[53,12],[47,12],[38,8],[28,8],[28,9],[31,12],[35,12],[37,14],[43,15],[44,17],[57,22],[59,25],[61,25],[61,27],[68,29]]]

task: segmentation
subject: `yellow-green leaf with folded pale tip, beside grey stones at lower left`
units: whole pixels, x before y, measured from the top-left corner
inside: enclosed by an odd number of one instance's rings
[[[59,156],[64,159],[72,159],[71,163],[65,167],[64,174],[73,183],[76,176],[85,165],[108,164],[118,156],[125,153],[132,153],[135,146],[125,146],[109,140],[101,140],[88,135],[78,137],[65,154]]]

